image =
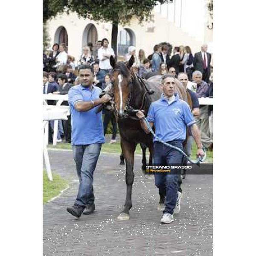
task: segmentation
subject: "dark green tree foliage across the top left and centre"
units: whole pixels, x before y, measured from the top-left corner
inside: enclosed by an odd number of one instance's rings
[[[151,11],[157,3],[167,0],[44,0],[43,19],[62,12],[76,12],[79,17],[125,25],[132,17],[139,22],[152,18]]]

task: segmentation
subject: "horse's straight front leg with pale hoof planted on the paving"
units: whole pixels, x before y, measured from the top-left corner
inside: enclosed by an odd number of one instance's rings
[[[117,217],[119,220],[128,220],[130,218],[131,204],[131,189],[134,183],[134,151],[135,143],[129,143],[126,140],[121,140],[122,152],[125,157],[125,183],[126,183],[126,199],[123,211]]]

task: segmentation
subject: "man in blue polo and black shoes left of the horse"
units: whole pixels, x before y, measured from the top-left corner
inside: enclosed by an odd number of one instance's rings
[[[105,94],[99,99],[101,89],[93,86],[93,68],[86,64],[79,68],[79,85],[68,93],[71,113],[71,145],[79,177],[79,190],[75,204],[67,211],[79,218],[95,209],[93,195],[93,172],[96,168],[103,135],[102,112],[97,113],[98,105],[108,102],[111,97]]]

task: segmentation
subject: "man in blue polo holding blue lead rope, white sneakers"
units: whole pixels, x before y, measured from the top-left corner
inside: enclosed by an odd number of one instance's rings
[[[203,156],[203,145],[201,143],[200,133],[195,124],[195,120],[189,108],[189,105],[179,99],[175,91],[175,78],[167,74],[162,77],[163,94],[159,100],[153,102],[148,110],[147,120],[151,127],[155,127],[155,134],[161,140],[183,150],[183,141],[186,139],[186,126],[191,128],[192,136],[198,146],[197,155]],[[137,116],[141,119],[140,124],[146,133],[148,128],[142,119],[144,113],[139,111]],[[172,163],[182,163],[183,155],[154,138],[154,163],[165,165]],[[171,223],[174,221],[173,212],[178,206],[176,212],[180,210],[181,193],[178,193],[178,174],[156,174],[155,185],[159,193],[166,195],[165,209],[163,210],[162,223]]]

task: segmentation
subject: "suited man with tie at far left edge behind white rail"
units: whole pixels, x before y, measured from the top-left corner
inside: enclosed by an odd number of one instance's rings
[[[57,88],[49,83],[48,81],[48,73],[43,71],[43,94],[48,93],[54,93],[57,90]],[[48,105],[56,105],[55,100],[47,100]],[[49,128],[48,128],[48,140],[49,143],[52,143],[52,132],[53,132],[53,122],[49,122]]]

